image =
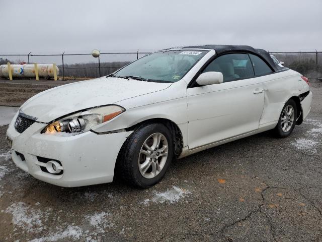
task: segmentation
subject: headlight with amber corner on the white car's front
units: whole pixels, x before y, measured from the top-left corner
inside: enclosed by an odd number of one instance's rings
[[[70,116],[48,125],[41,133],[81,133],[91,130],[93,127],[108,122],[125,109],[116,105],[91,108],[86,111],[74,113]]]

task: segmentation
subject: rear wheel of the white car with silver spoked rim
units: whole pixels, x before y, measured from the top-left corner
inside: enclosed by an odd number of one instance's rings
[[[288,114],[286,114],[288,112]],[[291,114],[290,114],[291,113]],[[288,100],[280,114],[278,119],[278,124],[275,127],[275,134],[278,138],[286,138],[288,137],[296,124],[297,118],[297,107],[294,100]],[[286,126],[287,124],[287,126]]]

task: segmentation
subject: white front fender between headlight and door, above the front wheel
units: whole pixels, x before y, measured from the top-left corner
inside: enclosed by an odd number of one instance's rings
[[[164,118],[179,126],[186,143],[188,137],[186,87],[185,82],[177,82],[166,90],[117,102],[115,104],[123,106],[126,111],[92,130],[96,133],[106,133],[127,129],[145,120]]]

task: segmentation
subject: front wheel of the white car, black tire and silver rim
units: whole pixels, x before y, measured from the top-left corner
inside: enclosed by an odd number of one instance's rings
[[[172,137],[170,130],[163,124],[143,124],[123,144],[116,162],[117,173],[128,184],[139,188],[148,188],[158,183],[174,156]],[[155,150],[153,148],[157,142],[159,145]]]

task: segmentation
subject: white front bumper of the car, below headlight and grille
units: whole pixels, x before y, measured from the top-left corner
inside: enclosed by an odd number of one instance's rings
[[[14,117],[7,131],[12,141],[15,164],[37,179],[61,187],[79,187],[113,181],[119,150],[130,132],[98,135],[86,132],[75,136],[40,134],[46,124],[34,123],[22,134],[14,128]],[[40,157],[40,158],[39,158]],[[59,161],[62,174],[43,171],[45,160]]]

